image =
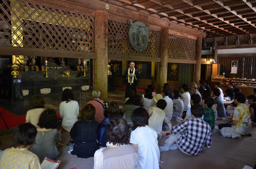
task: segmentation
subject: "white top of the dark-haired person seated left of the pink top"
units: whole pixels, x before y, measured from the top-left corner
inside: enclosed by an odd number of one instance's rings
[[[63,101],[59,105],[59,114],[62,118],[62,128],[70,132],[74,123],[78,121],[79,106],[77,101]]]

